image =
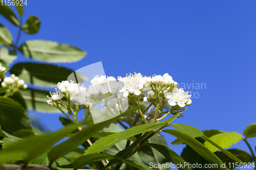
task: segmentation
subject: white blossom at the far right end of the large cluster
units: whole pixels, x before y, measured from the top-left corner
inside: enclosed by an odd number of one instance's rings
[[[184,107],[188,102],[191,95],[188,95],[188,91],[184,92],[184,90],[175,88],[172,92],[164,92],[165,98],[169,99],[168,103],[170,106],[175,106],[178,104],[180,107]]]

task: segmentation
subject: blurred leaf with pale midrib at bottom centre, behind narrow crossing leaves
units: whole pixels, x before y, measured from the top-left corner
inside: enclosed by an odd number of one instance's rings
[[[155,134],[152,136],[150,139],[148,139],[148,142],[155,144],[158,143],[159,145],[167,148],[167,143],[164,140],[163,136],[160,136],[160,133]],[[144,144],[142,147],[139,149],[138,154],[140,156],[140,159],[142,160],[143,164],[150,166],[151,162],[154,164],[166,164],[167,162],[170,162],[170,159],[163,155],[161,152],[156,150],[156,148],[152,147],[150,144]],[[162,170],[167,170],[170,168],[154,168],[153,169],[162,169]]]

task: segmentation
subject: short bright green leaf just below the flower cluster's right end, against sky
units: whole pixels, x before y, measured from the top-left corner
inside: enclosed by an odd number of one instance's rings
[[[199,137],[204,135],[204,133],[200,130],[198,130],[197,128],[188,126],[188,125],[182,125],[182,124],[171,124],[172,127],[182,133],[188,134],[192,137]]]

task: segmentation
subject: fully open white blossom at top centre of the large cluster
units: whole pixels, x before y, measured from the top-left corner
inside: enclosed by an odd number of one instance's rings
[[[140,95],[146,85],[146,80],[140,73],[126,75],[124,78],[118,77],[118,80],[124,83],[124,87],[120,90],[120,92],[123,92],[124,97],[127,97],[129,93]]]

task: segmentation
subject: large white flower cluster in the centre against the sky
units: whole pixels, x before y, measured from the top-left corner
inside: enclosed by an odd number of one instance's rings
[[[47,103],[59,109],[64,106],[70,114],[71,108],[76,108],[73,112],[77,114],[80,109],[93,110],[96,105],[101,105],[104,106],[100,111],[101,116],[120,114],[127,108],[142,105],[143,113],[142,110],[139,113],[144,114],[144,122],[159,121],[169,113],[184,111],[184,107],[191,104],[191,95],[178,89],[178,83],[167,73],[151,77],[134,73],[118,77],[117,80],[100,75],[95,76],[91,84],[86,88],[74,81],[59,82],[56,92],[50,92],[51,97],[48,97],[50,100]],[[61,101],[63,97],[67,98],[68,104]]]

